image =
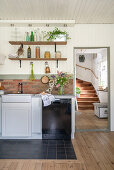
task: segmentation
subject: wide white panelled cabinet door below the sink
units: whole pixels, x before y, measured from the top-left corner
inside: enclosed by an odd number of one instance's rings
[[[2,104],[2,136],[31,136],[31,104]]]

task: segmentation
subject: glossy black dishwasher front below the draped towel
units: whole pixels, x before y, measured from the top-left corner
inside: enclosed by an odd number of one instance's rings
[[[71,139],[71,99],[56,99],[42,107],[42,138]]]

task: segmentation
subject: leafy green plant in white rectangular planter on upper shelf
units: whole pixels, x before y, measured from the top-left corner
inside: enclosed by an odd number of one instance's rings
[[[55,28],[53,31],[47,32],[46,36],[48,41],[66,41],[70,39],[66,31],[61,31],[59,28]]]

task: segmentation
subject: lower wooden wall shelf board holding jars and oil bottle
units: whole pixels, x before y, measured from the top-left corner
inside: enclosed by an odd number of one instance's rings
[[[10,60],[61,60],[61,61],[65,61],[67,60],[67,58],[9,58]]]

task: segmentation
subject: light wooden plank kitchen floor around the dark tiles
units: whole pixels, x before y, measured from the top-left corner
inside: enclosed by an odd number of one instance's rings
[[[0,160],[0,170],[114,170],[114,132],[77,132],[72,142],[77,160]]]

